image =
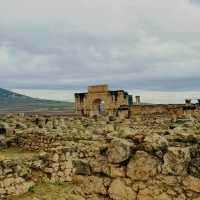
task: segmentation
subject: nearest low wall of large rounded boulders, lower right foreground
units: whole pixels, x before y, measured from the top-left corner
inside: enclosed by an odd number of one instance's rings
[[[92,157],[68,148],[43,152],[32,170],[42,172],[43,181],[72,182],[83,199],[197,200],[199,146],[168,146],[156,134],[138,143],[137,137],[137,144],[113,139]]]

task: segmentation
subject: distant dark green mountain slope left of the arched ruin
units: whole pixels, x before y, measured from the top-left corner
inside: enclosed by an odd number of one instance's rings
[[[73,111],[74,104],[32,98],[0,88],[0,112]]]

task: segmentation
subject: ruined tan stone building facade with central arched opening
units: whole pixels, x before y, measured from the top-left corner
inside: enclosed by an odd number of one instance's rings
[[[76,113],[86,116],[117,115],[121,111],[128,112],[132,104],[132,96],[126,91],[110,91],[108,85],[89,86],[87,93],[75,94]]]

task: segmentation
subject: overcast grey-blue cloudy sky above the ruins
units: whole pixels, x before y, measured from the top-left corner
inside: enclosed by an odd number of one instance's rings
[[[0,0],[0,87],[67,99],[100,83],[200,96],[200,0]]]

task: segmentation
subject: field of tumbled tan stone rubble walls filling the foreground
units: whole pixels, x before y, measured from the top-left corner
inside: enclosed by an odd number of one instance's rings
[[[57,200],[200,199],[198,115],[5,115],[0,127],[0,199],[43,200],[40,183],[71,184]]]

